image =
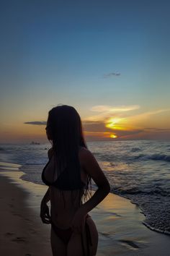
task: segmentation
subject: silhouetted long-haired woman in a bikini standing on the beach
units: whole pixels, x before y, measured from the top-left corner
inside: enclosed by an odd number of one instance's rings
[[[53,256],[96,255],[98,233],[88,213],[107,196],[109,182],[86,147],[75,108],[66,105],[52,108],[46,133],[52,148],[42,171],[48,191],[42,198],[40,217],[43,223],[51,224]],[[98,187],[92,196],[91,179]]]

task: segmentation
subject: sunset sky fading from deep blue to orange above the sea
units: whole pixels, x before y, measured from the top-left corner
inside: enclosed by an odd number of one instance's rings
[[[0,142],[47,141],[59,103],[79,111],[87,140],[170,140],[169,9],[166,0],[1,3]]]

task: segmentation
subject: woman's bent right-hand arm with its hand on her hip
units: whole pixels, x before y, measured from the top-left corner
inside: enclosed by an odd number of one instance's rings
[[[94,158],[94,155],[92,155],[89,150],[84,149],[81,151],[81,165],[86,173],[89,174],[97,184],[98,189],[76,212],[75,218],[73,219],[73,229],[76,231],[81,231],[82,219],[84,216],[86,216],[90,210],[95,208],[99,202],[102,202],[104,197],[106,197],[110,191],[109,182],[107,181],[106,176]]]

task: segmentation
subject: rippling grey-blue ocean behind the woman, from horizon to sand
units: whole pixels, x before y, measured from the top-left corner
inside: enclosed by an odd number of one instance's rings
[[[170,142],[127,140],[87,145],[107,176],[111,192],[138,205],[148,228],[170,234]],[[21,179],[42,184],[49,148],[50,144],[1,144],[0,162],[19,164],[24,172]],[[97,189],[95,184],[93,189]]]

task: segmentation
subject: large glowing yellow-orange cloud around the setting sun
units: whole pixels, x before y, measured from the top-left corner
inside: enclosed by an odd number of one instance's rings
[[[87,136],[107,137],[117,135],[120,139],[144,138],[148,135],[158,135],[169,133],[170,129],[159,127],[144,127],[152,116],[162,114],[169,109],[156,109],[153,111],[143,111],[136,113],[140,108],[138,105],[132,106],[93,106],[90,110],[94,115],[84,119],[84,130]],[[95,112],[98,112],[95,114]],[[153,119],[154,121],[155,119]],[[158,117],[156,118],[158,120]]]

